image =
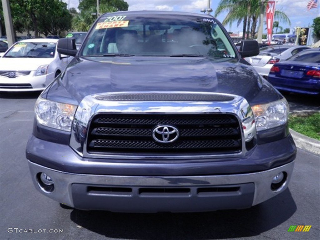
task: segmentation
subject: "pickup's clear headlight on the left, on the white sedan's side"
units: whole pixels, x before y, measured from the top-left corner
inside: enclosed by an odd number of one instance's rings
[[[76,108],[76,105],[39,97],[35,105],[36,119],[44,126],[70,132]]]

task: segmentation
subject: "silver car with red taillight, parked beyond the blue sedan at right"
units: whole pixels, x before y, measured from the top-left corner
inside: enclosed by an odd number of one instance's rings
[[[306,46],[291,46],[291,45],[270,45],[260,48],[260,53],[257,56],[245,58],[257,72],[267,79],[270,69],[276,62],[283,61],[289,57],[309,49]]]

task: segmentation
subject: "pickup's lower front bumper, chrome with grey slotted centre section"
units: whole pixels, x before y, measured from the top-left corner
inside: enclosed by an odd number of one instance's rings
[[[294,161],[267,171],[210,176],[112,176],[60,172],[29,161],[36,188],[77,209],[113,212],[203,212],[249,208],[287,188]],[[37,174],[45,172],[54,190],[44,193]],[[279,172],[286,180],[278,191],[271,181]]]

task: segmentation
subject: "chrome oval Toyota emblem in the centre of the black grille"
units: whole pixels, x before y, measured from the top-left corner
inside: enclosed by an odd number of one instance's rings
[[[154,140],[160,143],[169,143],[178,139],[179,131],[170,125],[159,125],[152,131]]]

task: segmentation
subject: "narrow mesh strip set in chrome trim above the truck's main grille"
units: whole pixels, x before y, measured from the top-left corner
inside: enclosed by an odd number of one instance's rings
[[[232,96],[197,93],[119,93],[97,96],[98,100],[109,101],[231,101]]]

